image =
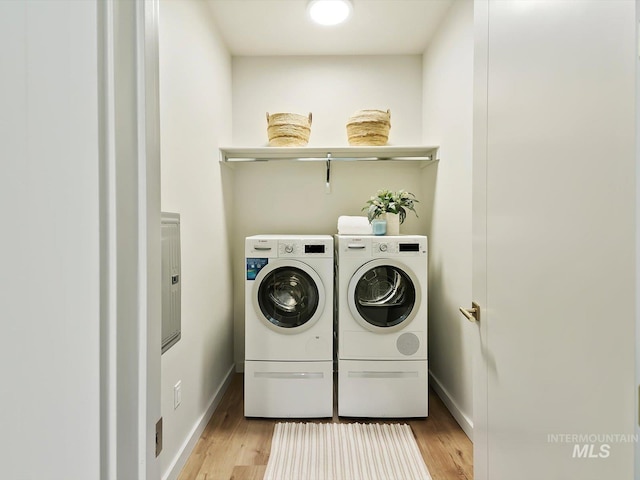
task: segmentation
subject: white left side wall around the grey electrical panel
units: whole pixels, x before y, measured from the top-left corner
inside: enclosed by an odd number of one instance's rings
[[[182,236],[182,338],[162,356],[162,474],[176,478],[233,365],[229,199],[218,164],[230,142],[231,61],[204,2],[160,2],[160,108],[162,209],[181,214]]]

